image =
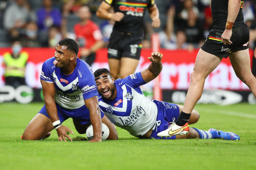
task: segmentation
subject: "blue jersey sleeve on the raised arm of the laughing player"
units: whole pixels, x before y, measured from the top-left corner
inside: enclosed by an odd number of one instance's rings
[[[141,72],[130,74],[121,81],[122,83],[126,83],[127,85],[133,88],[137,88],[143,84],[146,84],[146,82],[142,78]]]

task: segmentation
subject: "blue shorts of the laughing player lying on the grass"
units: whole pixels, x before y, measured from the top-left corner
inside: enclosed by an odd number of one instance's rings
[[[168,128],[169,122],[176,121],[180,114],[180,110],[177,104],[171,104],[164,101],[153,101],[157,106],[157,117],[155,128],[150,135],[150,138],[153,139],[176,139],[176,136],[171,137],[160,137],[157,136],[157,133],[162,132]]]

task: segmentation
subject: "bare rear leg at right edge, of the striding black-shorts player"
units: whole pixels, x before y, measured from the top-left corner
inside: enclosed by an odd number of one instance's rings
[[[256,97],[256,78],[251,71],[249,49],[234,52],[229,59],[236,76],[251,89]]]

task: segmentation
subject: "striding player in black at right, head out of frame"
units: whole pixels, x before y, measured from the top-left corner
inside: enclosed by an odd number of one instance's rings
[[[236,75],[256,97],[256,78],[250,67],[249,28],[244,24],[243,3],[244,0],[212,0],[213,29],[196,56],[184,107],[176,123],[158,133],[159,136],[177,135],[186,129],[190,114],[203,93],[206,77],[223,58],[229,56]]]

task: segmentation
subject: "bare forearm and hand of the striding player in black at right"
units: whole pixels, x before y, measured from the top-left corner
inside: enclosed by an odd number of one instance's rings
[[[229,0],[228,1],[228,18],[226,29],[221,35],[221,39],[224,45],[230,45],[232,42],[230,41],[232,35],[232,26],[235,22],[235,19],[238,15],[239,9],[241,5],[241,0]]]

